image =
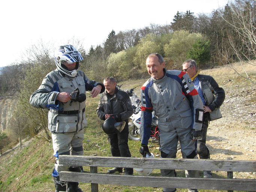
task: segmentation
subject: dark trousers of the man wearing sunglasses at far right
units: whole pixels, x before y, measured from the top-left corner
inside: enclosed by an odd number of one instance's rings
[[[210,158],[210,152],[205,145],[208,125],[209,125],[209,113],[204,113],[203,125],[201,130],[202,139],[197,140],[197,149],[196,149],[196,152],[197,154],[199,154],[200,159]]]

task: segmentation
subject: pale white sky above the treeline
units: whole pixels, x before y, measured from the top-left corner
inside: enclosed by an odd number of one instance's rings
[[[0,7],[0,67],[18,63],[32,45],[55,49],[80,40],[102,45],[111,30],[170,24],[179,12],[211,13],[228,0],[8,0]],[[3,54],[6,53],[6,54]],[[54,55],[53,55],[54,56]]]

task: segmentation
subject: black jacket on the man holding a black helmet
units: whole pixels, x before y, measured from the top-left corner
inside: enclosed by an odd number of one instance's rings
[[[117,122],[127,123],[133,114],[133,107],[128,94],[116,88],[113,96],[103,93],[96,111],[101,120],[105,120],[105,114],[115,114]]]

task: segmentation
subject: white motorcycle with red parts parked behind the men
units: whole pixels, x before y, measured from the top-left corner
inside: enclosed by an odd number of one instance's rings
[[[122,86],[122,85],[121,85]],[[121,87],[119,86],[119,88]],[[141,115],[141,99],[138,97],[135,93],[133,93],[134,89],[136,87],[126,90],[125,92],[128,93],[130,99],[131,99],[131,104],[133,107],[133,115],[131,115],[129,119],[129,138],[134,140],[134,141],[140,141],[140,115]],[[150,129],[150,138],[151,144],[154,140],[159,139],[159,130],[158,130],[158,118],[155,117],[154,111],[152,113],[152,123],[151,123],[151,129]],[[149,145],[149,147],[151,146]],[[178,142],[177,150],[181,149],[181,144]]]

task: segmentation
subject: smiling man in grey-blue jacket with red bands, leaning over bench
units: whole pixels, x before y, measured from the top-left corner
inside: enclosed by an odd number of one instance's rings
[[[196,139],[201,135],[203,103],[188,75],[183,71],[166,70],[163,57],[150,54],[146,67],[151,78],[141,88],[140,153],[149,153],[148,139],[152,111],[158,117],[162,158],[175,158],[178,140],[183,158],[197,159]],[[163,176],[175,177],[175,170],[161,169]],[[186,170],[186,177],[198,177],[198,171]],[[163,192],[175,188],[163,187]],[[197,192],[197,189],[189,189]]]

